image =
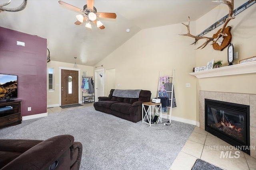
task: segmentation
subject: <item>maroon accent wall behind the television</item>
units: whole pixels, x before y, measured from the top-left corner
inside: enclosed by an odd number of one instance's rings
[[[46,44],[44,38],[0,27],[0,73],[18,75],[22,116],[47,112]]]

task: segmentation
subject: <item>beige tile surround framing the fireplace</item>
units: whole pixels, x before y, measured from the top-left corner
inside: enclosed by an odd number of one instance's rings
[[[256,148],[256,94],[199,91],[199,123],[202,129],[205,125],[204,99],[250,106],[250,146]],[[256,149],[252,149],[250,152],[250,156],[256,158]]]

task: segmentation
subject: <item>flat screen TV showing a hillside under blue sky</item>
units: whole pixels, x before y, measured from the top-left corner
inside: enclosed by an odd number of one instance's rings
[[[0,74],[0,100],[18,98],[18,76]]]

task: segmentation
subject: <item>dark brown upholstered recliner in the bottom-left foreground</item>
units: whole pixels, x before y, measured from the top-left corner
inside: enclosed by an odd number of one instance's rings
[[[79,170],[81,158],[82,144],[71,135],[45,141],[0,139],[1,170]]]

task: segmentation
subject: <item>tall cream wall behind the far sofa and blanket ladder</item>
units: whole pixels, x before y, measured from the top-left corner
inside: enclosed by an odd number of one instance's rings
[[[195,22],[191,22],[190,27],[191,32],[195,32]],[[172,115],[195,121],[196,78],[188,73],[196,65],[196,51],[189,45],[191,39],[176,35],[186,30],[182,24],[143,29],[96,65],[116,69],[115,88],[150,90],[151,98],[157,97],[159,72],[161,76],[171,76],[175,69],[177,107],[173,108]],[[191,87],[186,88],[186,83]],[[108,94],[105,90],[105,96]]]

